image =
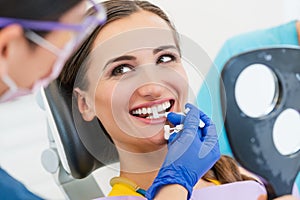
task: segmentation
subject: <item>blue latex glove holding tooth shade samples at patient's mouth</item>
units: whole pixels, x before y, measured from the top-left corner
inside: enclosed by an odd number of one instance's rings
[[[168,153],[153,184],[146,193],[147,199],[153,199],[164,185],[180,184],[188,191],[188,199],[194,185],[220,158],[218,136],[215,125],[198,108],[186,104],[190,111],[186,116],[169,113],[168,120],[184,128],[172,134],[168,142]],[[200,129],[200,119],[205,127]]]

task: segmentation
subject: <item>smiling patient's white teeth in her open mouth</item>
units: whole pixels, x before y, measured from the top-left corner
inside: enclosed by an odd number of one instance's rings
[[[157,119],[160,117],[158,115],[159,112],[165,111],[170,107],[171,107],[171,103],[169,101],[166,101],[166,102],[156,105],[156,106],[144,107],[144,108],[139,108],[139,109],[133,110],[132,114],[135,114],[135,115],[149,114],[149,116],[147,117],[148,119]],[[150,115],[150,114],[152,114],[152,115]]]

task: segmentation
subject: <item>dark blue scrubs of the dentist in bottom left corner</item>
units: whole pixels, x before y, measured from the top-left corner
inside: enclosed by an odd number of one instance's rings
[[[11,177],[0,167],[0,199],[1,200],[41,200],[27,188]]]

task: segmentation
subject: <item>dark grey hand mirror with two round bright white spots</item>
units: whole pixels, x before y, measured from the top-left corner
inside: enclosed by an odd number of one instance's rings
[[[234,157],[263,179],[270,199],[291,194],[300,170],[300,49],[242,53],[225,64],[221,78]]]

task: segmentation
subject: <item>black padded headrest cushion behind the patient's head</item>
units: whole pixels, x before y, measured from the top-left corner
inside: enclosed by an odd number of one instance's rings
[[[70,173],[74,178],[84,178],[95,169],[118,161],[117,151],[101,124],[97,119],[86,122],[81,118],[78,109],[72,106],[72,94],[56,80],[45,88],[44,92],[51,110],[48,117],[53,118],[60,138],[60,141],[55,142],[61,142]],[[83,135],[91,139],[83,141]]]

